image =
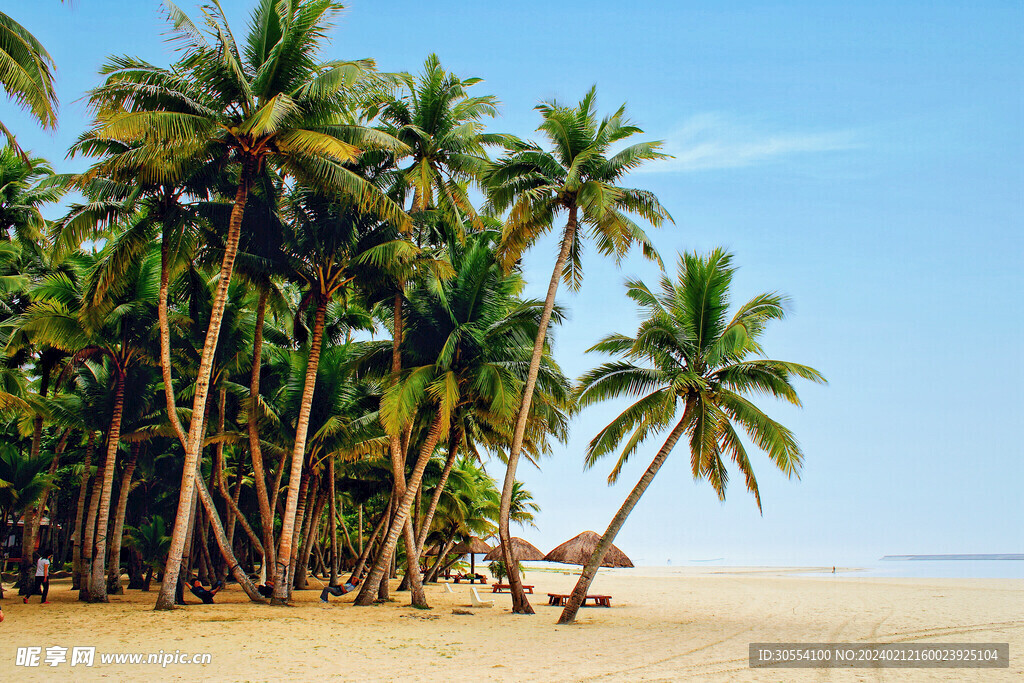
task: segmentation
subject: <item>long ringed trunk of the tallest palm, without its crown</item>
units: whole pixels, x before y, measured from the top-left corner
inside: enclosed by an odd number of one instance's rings
[[[231,284],[231,272],[234,270],[234,258],[239,251],[239,237],[242,233],[242,216],[249,197],[249,183],[255,173],[255,162],[246,159],[242,166],[242,176],[234,194],[234,205],[231,207],[231,218],[227,227],[227,240],[224,244],[224,257],[220,263],[220,280],[217,283],[217,293],[213,299],[213,309],[210,312],[210,327],[206,331],[206,341],[203,344],[203,355],[200,357],[199,371],[196,375],[196,396],[193,399],[193,417],[188,428],[188,439],[185,446],[185,462],[181,472],[181,493],[178,497],[178,512],[174,519],[174,530],[171,532],[171,548],[167,555],[167,566],[164,570],[164,583],[160,587],[156,609],[173,609],[175,586],[181,566],[181,556],[185,549],[185,532],[188,526],[188,511],[196,489],[196,465],[203,451],[203,428],[206,415],[207,397],[210,393],[210,374],[213,371],[213,358],[217,349],[217,339],[220,337],[220,326],[224,319],[224,306],[227,303],[227,288]]]

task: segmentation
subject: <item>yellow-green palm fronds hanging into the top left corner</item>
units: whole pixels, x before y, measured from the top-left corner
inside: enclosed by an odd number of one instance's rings
[[[53,90],[53,58],[46,48],[7,14],[0,12],[0,87],[28,110],[43,128],[57,125],[57,95]],[[0,122],[7,143],[14,135]]]

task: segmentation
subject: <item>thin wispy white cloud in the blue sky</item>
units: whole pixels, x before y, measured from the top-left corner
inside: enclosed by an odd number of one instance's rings
[[[674,159],[645,164],[638,170],[669,173],[743,168],[854,146],[850,132],[765,132],[718,114],[699,114],[666,139],[665,152]]]

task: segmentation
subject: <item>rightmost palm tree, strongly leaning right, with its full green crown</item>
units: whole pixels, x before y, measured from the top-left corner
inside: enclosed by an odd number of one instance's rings
[[[785,316],[786,299],[774,293],[759,294],[730,317],[729,287],[734,271],[732,256],[716,249],[708,256],[681,256],[676,280],[663,276],[657,293],[641,282],[628,282],[628,294],[644,314],[636,336],[610,335],[591,349],[622,359],[606,362],[581,378],[580,405],[623,396],[637,400],[591,440],[587,466],[616,451],[625,440],[608,475],[608,482],[613,483],[647,437],[670,431],[594,549],[559,624],[575,618],[615,535],[684,435],[689,437],[693,478],[707,479],[720,500],[725,500],[729,477],[724,461],[728,459],[743,475],[761,509],[758,482],[739,431],[783,474],[800,475],[804,456],[796,437],[762,413],[748,395],[763,393],[800,405],[793,380],[823,383],[824,378],[813,368],[763,357],[761,336],[771,321]]]

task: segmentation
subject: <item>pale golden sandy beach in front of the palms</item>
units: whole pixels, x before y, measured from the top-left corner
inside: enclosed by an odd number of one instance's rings
[[[857,572],[808,575],[778,568],[602,571],[592,592],[612,607],[582,610],[556,627],[546,593],[568,592],[575,575],[529,571],[535,616],[509,613],[511,598],[468,608],[465,585],[428,586],[433,609],[396,602],[366,608],[350,596],[325,607],[318,591],[296,593],[295,606],[251,605],[238,587],[217,604],[155,612],[156,593],[130,591],[87,605],[54,581],[52,604],[28,604],[12,592],[0,625],[0,672],[18,680],[530,680],[530,681],[1010,681],[1024,677],[1024,582],[873,579]],[[313,586],[318,586],[315,581]],[[191,596],[188,596],[191,600]],[[1001,670],[760,670],[748,668],[751,642],[1009,642]],[[91,668],[16,667],[25,646],[94,646]],[[104,652],[202,652],[209,665],[102,665]],[[70,656],[69,656],[70,658]]]

